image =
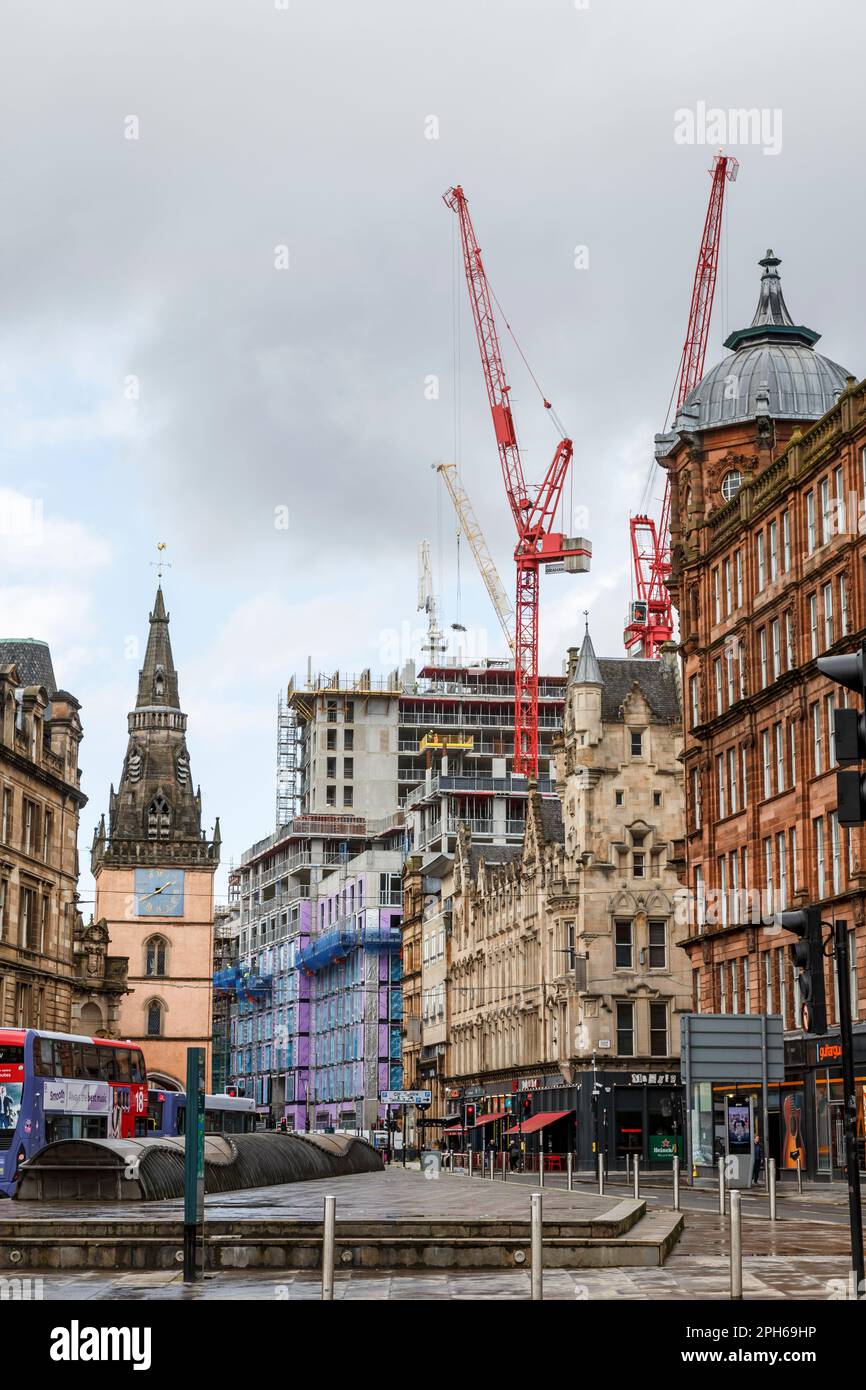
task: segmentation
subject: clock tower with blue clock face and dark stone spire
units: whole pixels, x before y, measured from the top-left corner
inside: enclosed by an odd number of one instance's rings
[[[128,724],[108,827],[103,816],[93,837],[95,916],[106,922],[114,949],[129,956],[131,992],[120,1006],[120,1036],[142,1044],[157,1086],[183,1090],[188,1047],[207,1049],[210,1077],[220,821],[207,838],[161,584]]]

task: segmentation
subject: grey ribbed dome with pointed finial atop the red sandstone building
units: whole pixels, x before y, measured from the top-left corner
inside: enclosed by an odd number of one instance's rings
[[[753,420],[817,420],[835,403],[849,375],[815,350],[820,338],[795,324],[788,313],[773,252],[763,267],[758,309],[749,328],[738,328],[724,346],[731,349],[685,398],[681,411],[691,430]]]

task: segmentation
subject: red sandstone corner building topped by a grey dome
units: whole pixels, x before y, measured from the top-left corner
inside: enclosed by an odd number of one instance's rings
[[[816,657],[866,637],[866,382],[791,318],[778,260],[760,261],[755,318],[687,399],[656,452],[671,474],[671,591],[680,612],[687,835],[696,1012],[781,1013],[785,1074],[769,1152],[838,1176],[835,987],[827,1038],[799,1031],[788,947],[773,912],[820,902],[851,924],[853,1016],[866,1009],[863,831],[835,813],[833,708]],[[856,1027],[863,1133],[866,1027]],[[691,1098],[712,1161],[724,1087]],[[716,1094],[713,1094],[713,1091]],[[706,1150],[706,1152],[703,1152]]]

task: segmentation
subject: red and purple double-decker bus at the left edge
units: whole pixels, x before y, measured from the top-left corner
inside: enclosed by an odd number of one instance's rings
[[[58,1138],[147,1133],[147,1070],[135,1042],[0,1029],[0,1194]]]

